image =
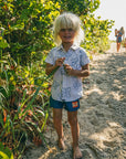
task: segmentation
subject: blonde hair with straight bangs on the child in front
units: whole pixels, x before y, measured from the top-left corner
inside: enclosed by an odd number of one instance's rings
[[[81,28],[80,18],[71,12],[64,12],[55,19],[53,24],[53,36],[56,45],[62,43],[62,40],[59,35],[60,30],[70,28],[75,31],[74,43],[80,45],[81,42],[84,41],[84,31]]]

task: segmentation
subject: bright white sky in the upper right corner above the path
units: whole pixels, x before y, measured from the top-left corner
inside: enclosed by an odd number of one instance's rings
[[[115,29],[119,30],[122,26],[124,26],[126,36],[126,0],[101,0],[99,8],[94,13],[95,17],[101,15],[102,20],[115,21],[109,35],[111,40],[115,40]]]

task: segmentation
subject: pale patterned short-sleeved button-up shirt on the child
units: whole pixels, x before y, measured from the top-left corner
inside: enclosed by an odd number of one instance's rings
[[[84,49],[72,45],[67,52],[63,46],[51,50],[45,62],[52,65],[60,57],[65,57],[64,64],[71,65],[74,70],[81,70],[82,66],[90,63]],[[51,88],[52,98],[60,102],[72,102],[83,96],[82,78],[66,74],[64,66],[57,68],[53,76]]]

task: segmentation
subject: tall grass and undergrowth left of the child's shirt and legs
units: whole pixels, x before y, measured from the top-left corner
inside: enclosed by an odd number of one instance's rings
[[[45,76],[41,66],[42,73],[33,73],[36,63],[32,67],[22,67],[9,56],[2,57],[1,62],[0,141],[20,158],[28,140],[46,144],[43,132],[49,117],[48,83],[51,76]]]

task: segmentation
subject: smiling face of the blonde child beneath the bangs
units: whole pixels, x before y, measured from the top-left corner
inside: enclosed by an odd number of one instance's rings
[[[71,28],[69,29],[61,29],[59,35],[62,40],[62,43],[72,43],[74,42],[75,31]]]

